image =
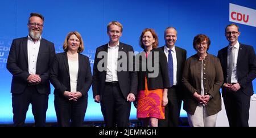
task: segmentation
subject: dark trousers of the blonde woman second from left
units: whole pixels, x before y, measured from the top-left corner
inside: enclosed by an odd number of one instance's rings
[[[87,103],[88,96],[82,96],[77,101],[68,101],[64,96],[55,95],[54,106],[59,126],[82,127]]]

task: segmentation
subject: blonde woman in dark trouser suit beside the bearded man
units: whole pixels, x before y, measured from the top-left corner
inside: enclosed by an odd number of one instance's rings
[[[92,84],[89,58],[80,54],[84,43],[79,32],[69,32],[63,44],[64,53],[56,54],[50,72],[55,87],[55,111],[59,126],[80,127],[84,122],[88,90]]]

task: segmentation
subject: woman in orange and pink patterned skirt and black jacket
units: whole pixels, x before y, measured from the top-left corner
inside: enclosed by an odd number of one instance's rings
[[[138,71],[137,118],[143,126],[158,126],[158,119],[164,119],[164,106],[168,103],[170,88],[166,55],[158,46],[154,29],[144,29],[139,44],[144,51],[136,55]]]

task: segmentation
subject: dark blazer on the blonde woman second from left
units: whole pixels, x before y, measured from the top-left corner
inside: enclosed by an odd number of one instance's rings
[[[56,54],[50,72],[50,79],[52,85],[55,87],[55,95],[63,96],[66,90],[70,92],[71,86],[67,53]],[[81,92],[82,96],[88,96],[90,85],[92,85],[92,72],[90,70],[89,58],[79,53],[77,92]]]

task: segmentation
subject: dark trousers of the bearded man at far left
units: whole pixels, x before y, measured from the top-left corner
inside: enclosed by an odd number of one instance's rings
[[[28,86],[22,94],[12,94],[13,122],[15,127],[23,127],[28,106],[32,105],[32,113],[36,127],[46,126],[46,111],[49,94],[40,94],[35,86]]]

